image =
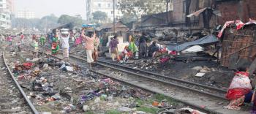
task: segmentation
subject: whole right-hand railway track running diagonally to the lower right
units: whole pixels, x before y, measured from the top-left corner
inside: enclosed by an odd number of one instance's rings
[[[61,59],[57,56],[53,57]],[[85,56],[69,54],[69,57],[73,58],[72,61],[75,61],[75,63],[81,64],[81,62],[86,62]],[[169,78],[164,75],[132,69],[106,61],[99,61],[97,64],[101,67],[97,66],[93,69],[88,69],[88,66],[85,64],[81,67],[97,75],[110,77],[113,80],[126,83],[130,86],[143,88],[152,93],[163,94],[204,113],[248,113],[247,111],[226,110],[223,108],[224,105],[228,104],[227,99],[224,97],[226,90],[204,86],[186,80],[179,80],[173,77]],[[116,71],[121,72],[121,75],[118,75]]]

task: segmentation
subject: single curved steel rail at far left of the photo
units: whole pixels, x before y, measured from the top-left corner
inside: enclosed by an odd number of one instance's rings
[[[14,75],[12,75],[12,71],[11,71],[10,67],[8,66],[7,61],[6,61],[6,59],[5,59],[5,49],[6,49],[6,47],[4,47],[4,51],[3,51],[3,53],[2,53],[2,54],[3,54],[2,56],[3,56],[3,59],[4,59],[4,64],[5,64],[5,66],[7,67],[8,72],[9,72],[9,74],[10,74],[11,77],[12,77],[12,80],[15,82],[15,85],[18,87],[18,90],[19,90],[20,93],[22,94],[22,96],[23,96],[23,98],[25,99],[26,103],[29,104],[29,107],[31,108],[32,112],[33,112],[34,114],[39,114],[38,111],[37,111],[37,109],[34,107],[34,105],[31,103],[31,101],[29,100],[29,98],[26,96],[26,93],[23,91],[23,89],[21,88],[21,86],[20,86],[20,84],[18,83],[18,81],[15,79]]]

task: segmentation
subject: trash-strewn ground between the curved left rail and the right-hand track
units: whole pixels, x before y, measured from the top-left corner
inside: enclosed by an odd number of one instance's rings
[[[45,55],[39,55],[40,59],[36,61],[31,53],[16,52],[16,49],[8,48],[8,64],[39,112],[149,114],[159,110],[151,104],[154,101],[167,100],[168,105],[178,105],[173,99],[159,94],[140,93],[142,90],[138,88],[97,77],[86,72],[86,69],[75,72],[60,69],[63,61]],[[24,69],[22,64],[30,62],[34,65]],[[72,64],[69,66],[75,67]]]

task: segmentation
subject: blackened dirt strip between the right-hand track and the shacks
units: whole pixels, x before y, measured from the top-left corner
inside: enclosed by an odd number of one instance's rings
[[[77,51],[73,51],[73,53],[86,56],[83,47]],[[106,58],[104,55],[99,59],[118,63],[116,61],[111,61],[110,58]],[[144,64],[148,65],[143,66]],[[233,70],[227,69],[224,66],[219,66],[217,61],[170,61],[159,64],[154,58],[148,58],[129,60],[127,64],[123,65],[223,89],[228,88],[234,76]],[[202,70],[206,74],[203,75],[203,77],[195,77],[197,72],[201,72]]]

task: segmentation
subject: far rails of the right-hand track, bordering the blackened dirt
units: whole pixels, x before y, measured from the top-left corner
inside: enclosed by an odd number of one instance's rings
[[[74,55],[74,54],[70,54],[69,55],[72,58],[76,58],[79,59],[81,61],[86,61],[86,56],[81,56],[81,55]],[[187,89],[189,91],[195,91],[197,93],[200,94],[205,94],[208,96],[214,96],[217,97],[218,99],[224,99],[225,100],[225,93],[227,92],[227,90],[222,90],[219,88],[214,88],[211,86],[205,86],[202,84],[198,84],[198,83],[194,83],[194,82],[189,82],[187,80],[181,80],[175,77],[168,77],[165,75],[159,75],[157,73],[154,72],[147,72],[147,71],[143,71],[140,69],[133,69],[131,67],[128,66],[123,66],[120,64],[113,64],[107,61],[101,61],[99,60],[98,63],[100,66],[105,66],[111,69],[116,69],[118,71],[121,72],[126,72],[130,75],[136,75],[138,77],[144,77],[147,78],[149,80],[154,80],[157,82],[161,82],[161,83],[165,83],[167,85],[170,86],[176,86],[178,88],[184,88]]]

